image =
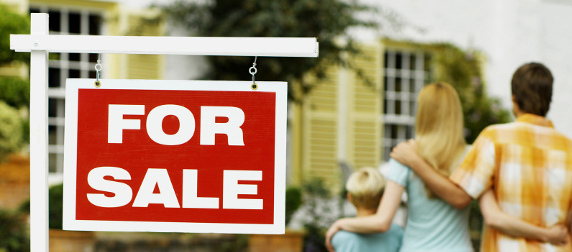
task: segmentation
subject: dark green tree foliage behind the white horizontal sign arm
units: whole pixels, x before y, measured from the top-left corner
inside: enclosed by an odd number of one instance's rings
[[[358,53],[350,28],[377,28],[375,22],[358,19],[356,13],[374,14],[373,7],[343,0],[214,0],[208,3],[177,0],[161,6],[170,20],[204,37],[317,37],[319,58],[259,58],[257,80],[288,81],[289,98],[299,101],[315,82],[303,76],[313,72],[323,78],[325,68],[339,64],[355,69],[343,57]],[[343,41],[339,43],[336,41]],[[218,80],[249,80],[253,58],[209,57],[211,73]]]

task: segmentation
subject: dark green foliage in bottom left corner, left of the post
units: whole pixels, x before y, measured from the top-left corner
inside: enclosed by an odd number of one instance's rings
[[[30,240],[25,216],[0,209],[0,251],[30,251]]]

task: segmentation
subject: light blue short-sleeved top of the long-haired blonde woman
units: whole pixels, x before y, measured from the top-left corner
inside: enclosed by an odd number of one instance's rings
[[[471,252],[469,208],[458,210],[440,198],[427,198],[425,184],[409,167],[389,160],[387,179],[407,191],[407,224],[402,252]]]

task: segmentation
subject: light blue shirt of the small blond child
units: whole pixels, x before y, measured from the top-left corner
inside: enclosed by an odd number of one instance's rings
[[[403,229],[396,224],[385,233],[358,234],[340,230],[332,237],[336,252],[397,252],[401,247]]]

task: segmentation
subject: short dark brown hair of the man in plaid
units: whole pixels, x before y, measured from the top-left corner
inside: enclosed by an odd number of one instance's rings
[[[525,113],[546,116],[552,101],[554,78],[547,67],[528,63],[519,67],[512,76],[512,95],[518,108]]]

